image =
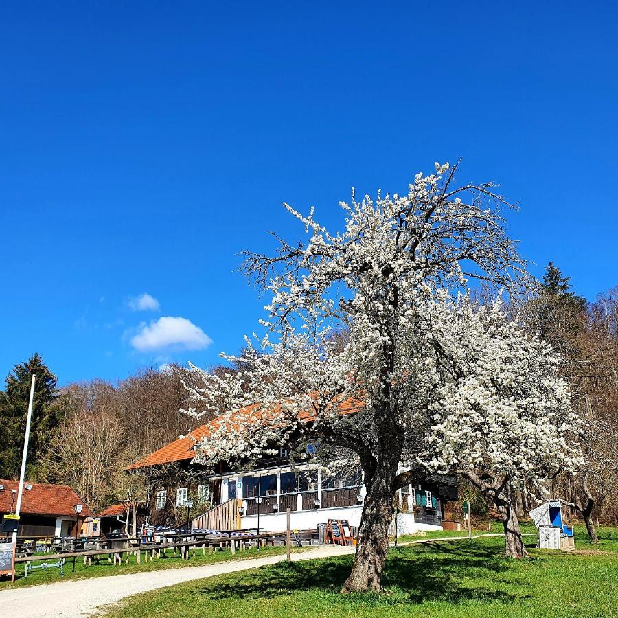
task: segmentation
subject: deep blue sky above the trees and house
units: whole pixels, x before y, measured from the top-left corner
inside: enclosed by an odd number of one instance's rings
[[[520,203],[531,270],[593,299],[618,284],[617,23],[610,2],[3,2],[0,376],[35,351],[61,384],[216,363],[264,305],[236,254],[299,237],[282,201],[336,226],[353,185],[459,157]]]

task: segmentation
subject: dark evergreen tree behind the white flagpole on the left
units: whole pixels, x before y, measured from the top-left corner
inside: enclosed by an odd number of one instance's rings
[[[0,477],[4,479],[19,477],[32,374],[36,375],[36,382],[26,468],[28,479],[40,477],[45,445],[65,415],[65,398],[56,389],[58,378],[49,371],[43,358],[34,354],[26,363],[15,365],[6,378],[5,392],[0,393],[0,437],[3,447],[0,452]]]

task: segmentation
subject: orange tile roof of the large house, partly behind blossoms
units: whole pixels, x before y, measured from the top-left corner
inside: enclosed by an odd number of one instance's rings
[[[352,414],[357,412],[361,405],[361,402],[347,399],[339,404],[339,412],[342,415]],[[238,414],[247,416],[255,415],[257,417],[258,413],[253,412],[256,407],[257,406],[255,404],[252,406],[247,406],[246,408],[238,411]],[[311,421],[314,419],[314,413],[310,411],[302,411],[299,413],[298,417],[301,420]],[[221,418],[222,416],[218,416],[207,424],[198,427],[189,435],[174,440],[174,442],[170,442],[170,444],[165,444],[165,446],[162,446],[159,450],[155,450],[154,453],[150,453],[146,459],[137,461],[135,464],[129,466],[127,470],[148,468],[149,466],[158,466],[161,464],[170,464],[174,461],[186,461],[187,459],[193,459],[195,457],[195,442],[201,440],[204,436],[208,436],[211,431],[218,429],[221,426]]]

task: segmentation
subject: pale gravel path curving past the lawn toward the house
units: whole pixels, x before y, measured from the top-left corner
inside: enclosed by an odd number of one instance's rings
[[[475,534],[481,536],[502,536],[501,534]],[[450,536],[442,538],[421,538],[400,545],[464,540],[468,537]],[[392,545],[392,544],[391,544]],[[354,553],[354,547],[326,545],[292,554],[292,560],[312,560]],[[126,573],[108,577],[91,577],[86,580],[65,580],[53,584],[27,586],[0,591],[0,618],[80,618],[91,616],[97,608],[118,602],[125,597],[156,588],[165,588],[204,577],[233,573],[282,562],[286,556],[268,556],[251,560],[230,560],[203,567],[163,569],[149,573]]]

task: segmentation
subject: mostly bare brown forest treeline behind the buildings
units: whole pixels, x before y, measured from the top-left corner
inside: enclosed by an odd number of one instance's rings
[[[587,302],[550,262],[534,297],[518,308],[518,315],[531,335],[549,341],[560,353],[573,405],[587,421],[582,449],[588,466],[579,477],[548,479],[552,493],[584,516],[617,524],[618,286]],[[52,370],[34,354],[14,367],[0,392],[3,479],[19,477],[33,372],[37,382],[27,476],[71,485],[94,510],[147,499],[154,479],[126,474],[126,466],[198,424],[181,412],[190,404],[183,381],[191,382],[192,374],[185,367],[141,369],[115,383],[93,380],[58,389]],[[513,501],[520,514],[536,504],[525,490],[517,490]]]

